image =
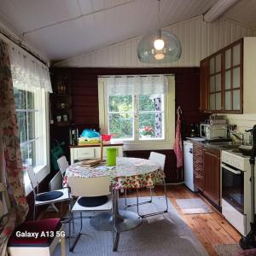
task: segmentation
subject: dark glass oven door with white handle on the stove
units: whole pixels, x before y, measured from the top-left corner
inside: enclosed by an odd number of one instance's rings
[[[244,213],[244,172],[225,164],[221,167],[222,198],[238,212]]]

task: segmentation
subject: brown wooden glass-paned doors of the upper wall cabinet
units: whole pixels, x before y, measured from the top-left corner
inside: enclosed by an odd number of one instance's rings
[[[243,48],[241,38],[201,61],[201,111],[242,113]]]

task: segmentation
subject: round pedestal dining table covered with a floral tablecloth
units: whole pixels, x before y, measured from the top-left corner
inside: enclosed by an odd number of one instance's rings
[[[109,176],[112,184],[113,213],[102,212],[90,218],[90,224],[96,230],[113,230],[113,215],[115,224],[120,232],[135,229],[142,223],[137,212],[119,210],[119,191],[125,189],[141,189],[152,187],[156,183],[163,183],[165,174],[160,164],[152,160],[117,157],[116,166],[83,166],[83,162],[67,167],[64,184],[68,184],[68,177],[102,177]]]

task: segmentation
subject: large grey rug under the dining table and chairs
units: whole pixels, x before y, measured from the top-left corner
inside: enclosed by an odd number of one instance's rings
[[[142,199],[143,200],[143,199]],[[129,199],[129,203],[136,199]],[[67,256],[204,256],[208,255],[201,242],[195,237],[178,216],[176,209],[169,203],[169,212],[165,215],[143,218],[143,224],[137,229],[120,234],[118,252],[112,252],[112,234],[110,232],[97,231],[90,226],[89,219],[84,218],[83,232],[87,236],[81,236],[74,252],[68,250]],[[119,199],[119,208],[124,208],[124,199]],[[154,197],[154,203],[140,206],[140,212],[152,212],[165,208],[164,197]],[[129,207],[129,211],[136,212],[136,207]],[[76,219],[79,227],[79,219]],[[76,230],[79,230],[76,228]],[[56,247],[53,256],[61,255],[60,246]]]

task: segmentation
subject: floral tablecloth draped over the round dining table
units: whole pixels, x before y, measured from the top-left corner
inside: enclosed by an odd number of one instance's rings
[[[85,167],[81,163],[68,166],[64,177],[101,177],[110,176],[113,189],[139,189],[163,183],[165,173],[160,165],[152,160],[118,157],[116,166]]]

